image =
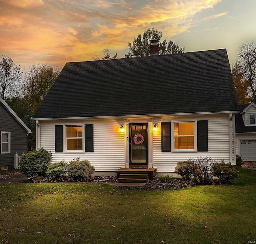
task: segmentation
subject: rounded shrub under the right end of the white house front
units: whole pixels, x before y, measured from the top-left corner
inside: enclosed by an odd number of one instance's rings
[[[212,175],[219,178],[221,183],[227,183],[238,176],[235,165],[226,164],[223,160],[212,165]]]

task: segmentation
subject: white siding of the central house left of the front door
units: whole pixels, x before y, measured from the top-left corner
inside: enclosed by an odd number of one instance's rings
[[[94,152],[55,152],[54,126],[58,124],[94,125]],[[123,124],[123,122],[122,122]],[[124,167],[124,133],[120,133],[116,120],[53,120],[40,121],[40,147],[52,152],[52,162],[69,162],[80,157],[89,160],[96,171],[115,171]],[[65,150],[65,148],[64,148]]]

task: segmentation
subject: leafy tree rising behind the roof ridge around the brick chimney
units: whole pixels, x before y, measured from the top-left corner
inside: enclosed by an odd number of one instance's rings
[[[134,41],[128,42],[129,52],[125,54],[125,58],[133,57],[144,57],[150,55],[150,40],[157,39],[160,41],[162,38],[162,32],[159,30],[148,28],[143,34],[138,34]],[[159,43],[159,54],[175,54],[184,52],[185,48],[181,48],[178,44],[174,43],[172,40],[168,42],[164,39],[163,42]]]

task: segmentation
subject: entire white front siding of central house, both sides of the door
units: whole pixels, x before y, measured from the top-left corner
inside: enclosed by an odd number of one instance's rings
[[[208,152],[197,152],[196,121],[208,120]],[[195,150],[192,151],[161,151],[161,122],[162,121],[194,121],[195,122]],[[225,160],[234,164],[234,117],[230,122],[229,114],[209,114],[194,116],[172,116],[158,118],[127,118],[98,119],[98,120],[52,120],[39,121],[40,135],[37,137],[41,148],[52,152],[53,162],[66,160],[69,162],[77,157],[89,160],[96,172],[114,172],[118,168],[129,166],[129,136],[128,128],[131,122],[148,122],[148,166],[156,167],[158,172],[174,172],[177,162],[190,158],[208,156],[217,160]],[[64,152],[55,153],[54,126],[55,125],[94,125],[94,152]],[[158,131],[153,132],[157,124]],[[124,125],[125,132],[120,132],[120,125]],[[232,126],[232,129],[230,129]],[[230,136],[230,132],[232,135]],[[38,134],[39,134],[38,133]],[[232,139],[230,146],[230,138]],[[64,144],[65,145],[65,144]],[[64,148],[65,150],[65,148]],[[230,160],[230,155],[232,155]]]

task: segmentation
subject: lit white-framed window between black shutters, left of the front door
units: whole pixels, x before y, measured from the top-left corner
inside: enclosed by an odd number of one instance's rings
[[[83,126],[66,126],[67,150],[83,150]]]

